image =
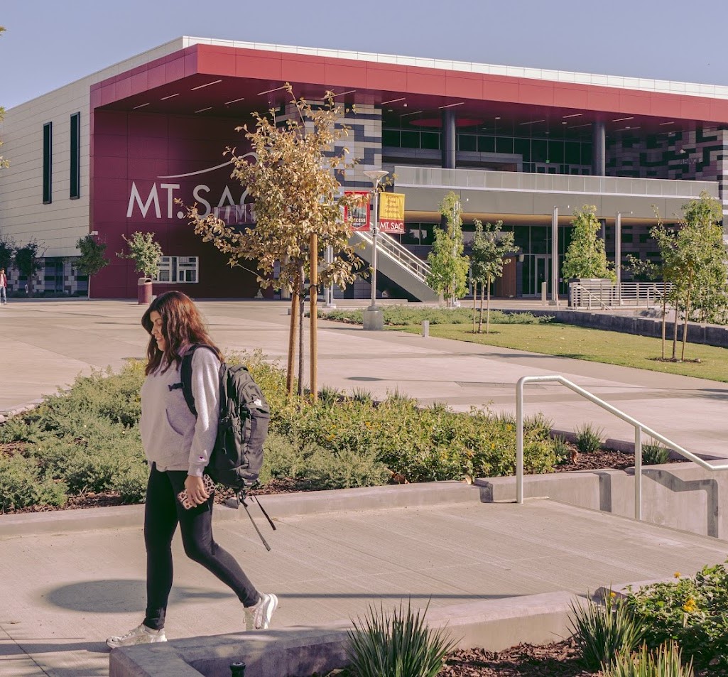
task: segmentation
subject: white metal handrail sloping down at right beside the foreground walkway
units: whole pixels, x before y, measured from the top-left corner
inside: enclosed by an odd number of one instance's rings
[[[601,400],[596,395],[592,395],[587,390],[572,383],[569,379],[564,379],[563,376],[553,374],[552,376],[522,376],[518,379],[518,383],[515,385],[515,502],[523,503],[523,386],[527,383],[544,383],[546,381],[555,381],[561,383],[567,388],[573,390],[578,395],[585,397],[590,402],[595,403],[602,409],[613,413],[617,418],[626,421],[628,424],[635,429],[635,519],[642,519],[642,433],[646,432],[654,440],[662,442],[665,446],[673,449],[681,456],[686,459],[697,463],[700,467],[705,470],[728,470],[728,463],[720,465],[711,465],[708,462],[682,448],[672,440],[668,440],[664,435],[660,435],[659,432],[655,432],[652,428],[647,427],[644,423],[641,423],[637,419],[633,419],[632,416],[620,411],[611,404]]]

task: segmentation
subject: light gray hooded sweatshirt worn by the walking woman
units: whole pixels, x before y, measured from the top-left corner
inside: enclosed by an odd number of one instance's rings
[[[192,357],[192,395],[197,418],[189,411],[181,388],[180,368],[158,369],[141,387],[139,429],[144,453],[157,470],[186,470],[202,477],[218,432],[220,361],[210,350],[196,350]]]

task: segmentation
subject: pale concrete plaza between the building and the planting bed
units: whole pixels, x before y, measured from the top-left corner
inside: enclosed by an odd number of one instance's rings
[[[285,360],[286,304],[203,301],[200,306],[223,349],[259,348]],[[146,333],[139,325],[141,314],[141,307],[130,301],[26,301],[1,308],[0,413],[55,392],[79,373],[109,365],[118,368],[127,357],[143,357]],[[305,355],[307,360],[307,349]],[[446,402],[460,411],[487,406],[513,412],[516,381],[550,373],[576,382],[690,451],[728,451],[728,384],[321,322],[320,387],[363,389],[377,397],[403,392],[424,403]],[[526,387],[526,413],[537,411],[559,429],[573,430],[591,421],[609,438],[634,438],[628,424],[560,384]]]

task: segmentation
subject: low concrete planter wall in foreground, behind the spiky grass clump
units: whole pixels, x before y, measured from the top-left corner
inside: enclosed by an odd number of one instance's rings
[[[427,625],[445,628],[459,649],[547,644],[569,636],[572,602],[586,603],[561,592],[440,606],[427,612]],[[348,627],[340,622],[114,649],[109,677],[229,677],[236,661],[245,662],[245,677],[325,675],[347,664]]]

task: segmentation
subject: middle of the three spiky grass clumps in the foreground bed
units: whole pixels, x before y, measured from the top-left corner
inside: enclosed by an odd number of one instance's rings
[[[595,671],[633,652],[644,632],[628,606],[617,601],[611,592],[604,604],[590,602],[587,606],[579,606],[571,603],[569,625],[585,668]]]

